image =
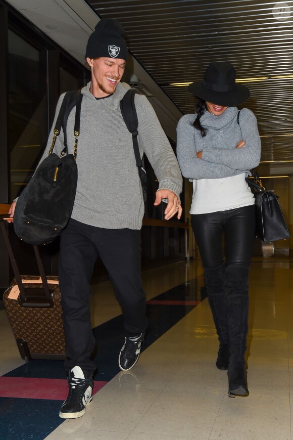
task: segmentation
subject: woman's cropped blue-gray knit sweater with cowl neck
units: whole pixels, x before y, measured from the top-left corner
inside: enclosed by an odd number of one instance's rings
[[[203,138],[200,130],[192,124],[196,115],[182,116],[177,125],[177,157],[184,177],[192,179],[219,179],[245,172],[258,166],[261,141],[257,120],[247,108],[240,111],[237,123],[237,108],[228,107],[220,116],[206,111],[201,124],[207,128]],[[244,148],[235,148],[239,141]],[[203,151],[202,159],[197,152]]]

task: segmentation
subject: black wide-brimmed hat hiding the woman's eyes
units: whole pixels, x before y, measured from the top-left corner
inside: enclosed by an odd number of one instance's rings
[[[223,61],[208,65],[204,79],[192,82],[188,91],[212,104],[236,106],[250,97],[249,89],[235,82],[236,72],[232,64]]]

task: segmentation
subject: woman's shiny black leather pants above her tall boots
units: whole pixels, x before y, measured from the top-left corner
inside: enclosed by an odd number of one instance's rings
[[[250,266],[255,237],[254,205],[208,214],[192,214],[191,226],[204,268],[216,268],[223,263],[223,234],[226,267]]]

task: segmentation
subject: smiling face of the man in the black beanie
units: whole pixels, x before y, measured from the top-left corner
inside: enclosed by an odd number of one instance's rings
[[[121,58],[87,58],[91,68],[90,93],[104,98],[115,92],[124,73],[126,61]]]

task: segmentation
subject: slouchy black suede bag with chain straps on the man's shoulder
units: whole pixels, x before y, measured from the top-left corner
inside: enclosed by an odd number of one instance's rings
[[[77,101],[76,94],[78,94]],[[26,243],[33,245],[51,243],[66,227],[71,216],[77,186],[76,154],[81,101],[80,92],[68,92],[65,95],[48,157],[37,167],[17,200],[14,229],[16,235]],[[59,157],[53,153],[56,138],[60,134],[64,115],[67,113],[68,116],[68,111],[75,103],[74,154],[65,154],[66,144]]]

